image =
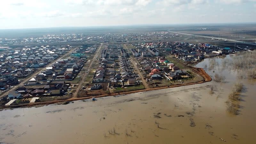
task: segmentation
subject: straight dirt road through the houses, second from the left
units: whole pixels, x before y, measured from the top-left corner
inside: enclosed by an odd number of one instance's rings
[[[91,69],[92,64],[93,64],[93,62],[95,61],[96,57],[98,56],[98,58],[100,58],[100,53],[99,53],[99,52],[100,52],[100,50],[101,50],[101,47],[102,47],[102,43],[100,44],[100,47],[99,47],[99,49],[97,50],[95,56],[92,58],[91,63],[90,63],[90,65],[89,65],[89,67],[87,68],[87,71],[84,73],[84,76],[83,76],[82,81],[80,81],[78,87],[76,88],[76,92],[73,94],[73,97],[77,97],[78,92],[79,92],[79,90],[81,90],[82,84],[84,83],[85,77],[88,76],[89,73],[90,73],[90,69]]]

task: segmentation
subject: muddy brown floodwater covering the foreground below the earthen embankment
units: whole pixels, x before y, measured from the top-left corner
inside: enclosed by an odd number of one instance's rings
[[[222,68],[224,59],[230,56],[215,58],[211,68],[209,59],[196,65],[225,76],[221,83],[3,110],[0,143],[256,143],[256,80]],[[239,114],[232,115],[225,101],[237,81],[244,90]],[[209,85],[215,85],[213,94]]]

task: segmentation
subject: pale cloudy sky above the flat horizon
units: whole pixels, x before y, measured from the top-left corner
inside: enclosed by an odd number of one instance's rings
[[[0,29],[256,22],[256,0],[1,0],[0,5]]]

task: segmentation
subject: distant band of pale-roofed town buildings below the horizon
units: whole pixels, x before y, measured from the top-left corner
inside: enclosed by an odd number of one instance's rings
[[[72,42],[127,42],[133,40],[154,40],[179,37],[170,32],[124,33],[124,34],[51,34],[36,38],[0,38],[0,46],[29,43],[72,43]]]

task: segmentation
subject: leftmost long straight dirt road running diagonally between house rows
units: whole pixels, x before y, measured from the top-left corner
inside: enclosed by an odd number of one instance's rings
[[[51,67],[52,64],[54,64],[55,62],[57,62],[58,60],[70,55],[70,53],[72,53],[74,50],[76,50],[76,48],[74,48],[73,50],[69,51],[67,54],[61,56],[60,58],[56,59],[55,61],[52,61],[51,63],[49,63],[48,65],[46,65],[46,67]],[[24,79],[23,82],[19,83],[18,85],[14,86],[12,89],[6,91],[5,93],[3,93],[0,98],[6,96],[8,94],[9,91],[11,90],[15,90],[17,89],[18,87],[20,87],[21,85],[23,85],[24,83],[26,83],[28,80],[30,80],[31,78],[33,78],[34,76],[38,75],[39,73],[41,73],[43,70],[45,70],[45,68],[39,68],[39,70],[37,70],[35,73],[33,73],[32,75],[30,75],[28,78]]]

